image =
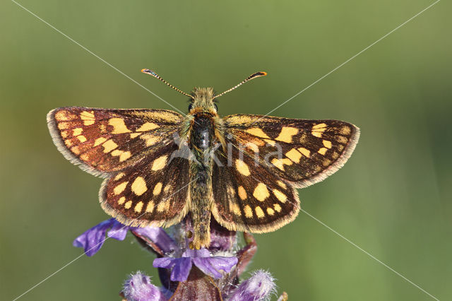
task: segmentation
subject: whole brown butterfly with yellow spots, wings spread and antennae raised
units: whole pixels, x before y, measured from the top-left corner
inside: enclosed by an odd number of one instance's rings
[[[297,188],[344,165],[357,126],[338,120],[218,115],[218,95],[194,88],[186,116],[169,110],[60,107],[47,114],[64,157],[105,178],[100,204],[124,225],[169,227],[188,214],[191,247],[210,244],[210,218],[229,230],[272,232],[299,213]]]

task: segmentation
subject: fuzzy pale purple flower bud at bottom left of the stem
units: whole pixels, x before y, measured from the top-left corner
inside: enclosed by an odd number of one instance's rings
[[[122,290],[124,297],[129,301],[167,301],[162,290],[150,282],[150,277],[140,271],[131,274],[124,283]]]

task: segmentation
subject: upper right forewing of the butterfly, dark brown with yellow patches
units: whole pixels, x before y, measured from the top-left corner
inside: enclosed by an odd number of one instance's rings
[[[359,129],[338,120],[237,114],[225,117],[229,141],[295,187],[320,182],[352,154]]]

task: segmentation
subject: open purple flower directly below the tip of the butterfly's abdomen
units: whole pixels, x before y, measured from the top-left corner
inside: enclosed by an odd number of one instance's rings
[[[162,257],[154,259],[155,268],[172,268],[171,281],[186,281],[189,277],[192,264],[203,273],[213,278],[221,278],[219,270],[229,273],[232,266],[237,264],[237,257],[210,256],[208,249],[186,249],[182,257]]]

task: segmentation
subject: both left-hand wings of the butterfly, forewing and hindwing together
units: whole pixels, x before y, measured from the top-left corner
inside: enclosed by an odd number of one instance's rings
[[[186,214],[189,163],[174,157],[182,120],[167,110],[62,107],[47,114],[65,158],[107,178],[102,208],[126,225],[171,225]]]

